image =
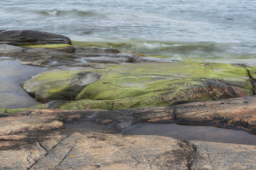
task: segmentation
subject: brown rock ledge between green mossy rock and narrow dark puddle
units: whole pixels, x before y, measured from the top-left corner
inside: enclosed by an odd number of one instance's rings
[[[256,96],[115,111],[38,109],[2,115],[6,116],[0,118],[2,135],[63,129],[63,122],[77,120],[99,125],[108,122],[111,125],[109,131],[114,133],[142,122],[214,125],[256,133]]]

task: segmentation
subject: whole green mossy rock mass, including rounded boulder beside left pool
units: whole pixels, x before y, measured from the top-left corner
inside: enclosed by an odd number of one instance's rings
[[[250,96],[253,81],[235,65],[133,63],[52,68],[22,86],[39,101],[75,100],[61,109],[112,110]]]

